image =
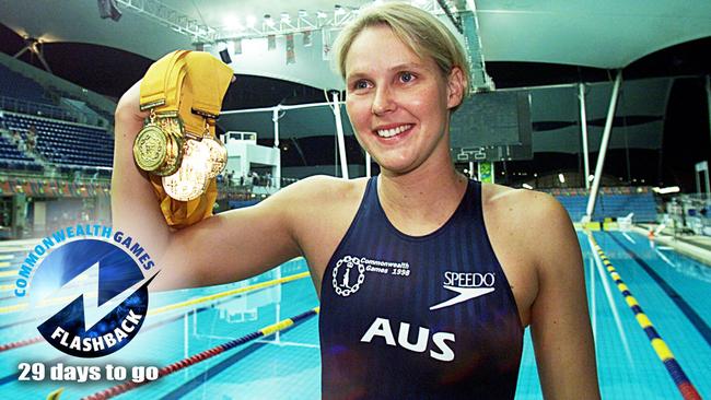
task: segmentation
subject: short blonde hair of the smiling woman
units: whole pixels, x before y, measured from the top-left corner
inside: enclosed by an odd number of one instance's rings
[[[334,44],[336,69],[346,79],[346,57],[356,37],[371,26],[385,25],[419,58],[431,57],[444,77],[454,67],[462,69],[467,93],[469,63],[452,32],[436,16],[403,2],[387,2],[360,10],[353,22],[341,31]]]

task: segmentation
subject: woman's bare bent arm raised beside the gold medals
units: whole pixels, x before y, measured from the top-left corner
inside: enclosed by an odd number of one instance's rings
[[[153,188],[133,161],[132,146],[143,126],[140,82],[116,108],[112,213],[116,230],[140,240],[161,274],[154,287],[187,287],[242,280],[301,254],[293,235],[294,204],[304,185],[292,185],[260,204],[224,212],[193,226],[173,230],[161,213]],[[306,184],[307,186],[307,184]]]

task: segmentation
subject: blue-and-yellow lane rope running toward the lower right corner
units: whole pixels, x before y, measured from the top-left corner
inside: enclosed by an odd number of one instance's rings
[[[617,272],[617,270],[615,269],[610,260],[607,258],[603,249],[599,247],[599,245],[597,245],[597,242],[595,242],[595,238],[593,237],[592,233],[590,233],[588,235],[590,235],[590,239],[594,244],[597,255],[599,256],[601,260],[603,260],[603,263],[607,267],[607,272],[609,273],[609,277],[617,284],[617,289],[625,297],[625,302],[634,314],[634,319],[637,319],[637,323],[639,323],[642,330],[644,330],[644,333],[646,333],[646,337],[650,340],[650,344],[652,345],[654,353],[656,353],[656,356],[664,364],[666,372],[672,377],[672,380],[674,381],[674,385],[676,385],[677,389],[681,393],[681,397],[685,400],[701,400],[701,396],[697,391],[696,387],[693,386],[693,384],[691,384],[686,373],[684,373],[684,369],[681,369],[681,365],[676,361],[669,346],[666,344],[666,342],[662,339],[660,333],[656,331],[656,329],[652,325],[652,321],[646,316],[646,314],[644,314],[637,298],[632,296],[632,293],[622,281],[620,274]],[[611,237],[615,242],[617,242],[620,246],[622,246],[622,244],[615,236]],[[622,248],[625,248],[625,246],[622,246]],[[629,252],[630,251],[628,250],[628,254]]]

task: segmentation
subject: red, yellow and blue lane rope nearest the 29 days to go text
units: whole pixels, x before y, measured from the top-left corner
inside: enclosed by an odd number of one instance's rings
[[[200,363],[200,362],[202,362],[205,360],[212,358],[213,356],[215,356],[218,354],[230,351],[230,350],[232,350],[232,349],[234,349],[234,348],[236,348],[238,345],[248,343],[248,342],[250,342],[250,341],[253,341],[255,339],[265,338],[265,337],[273,334],[273,333],[276,333],[278,331],[291,328],[292,326],[299,323],[300,321],[303,321],[305,319],[308,319],[308,318],[317,315],[319,309],[320,309],[320,307],[318,307],[318,306],[314,307],[314,308],[312,308],[312,309],[310,309],[310,310],[307,310],[305,313],[302,313],[300,315],[293,316],[291,318],[282,319],[281,321],[279,321],[277,323],[266,326],[266,327],[264,327],[264,328],[261,328],[261,329],[259,329],[259,330],[257,330],[255,332],[252,332],[249,334],[245,334],[242,338],[231,340],[229,342],[217,345],[217,346],[214,346],[212,349],[205,350],[205,351],[202,351],[200,353],[197,353],[197,354],[194,354],[194,355],[191,355],[191,356],[189,356],[187,358],[183,358],[183,360],[177,361],[177,362],[175,362],[173,364],[164,366],[164,367],[159,369],[158,379],[160,379],[160,378],[162,378],[162,377],[164,377],[166,375],[173,374],[173,373],[175,373],[177,370],[187,368],[187,367],[189,367],[189,366],[191,366],[194,364]],[[256,349],[258,349],[258,348],[256,348]],[[223,369],[226,369],[228,366],[229,365],[220,363],[220,364],[213,366],[212,368],[219,367],[219,370],[217,370],[217,373],[219,373],[219,372],[222,372]],[[185,392],[183,395],[191,391],[195,387],[201,385],[205,380],[207,380],[207,379],[205,379],[203,375],[205,374],[200,374],[197,377],[197,380],[193,379],[193,380],[184,384],[177,390],[180,390],[183,388],[183,390],[185,390]],[[158,379],[155,379],[155,380],[158,380]],[[83,399],[85,399],[85,400],[109,399],[109,398],[113,398],[115,396],[125,393],[125,392],[127,392],[127,391],[129,391],[131,389],[135,389],[135,388],[139,387],[139,386],[143,386],[145,384],[150,384],[150,383],[155,381],[155,380],[143,380],[140,384],[133,383],[132,380],[127,380],[124,384],[113,386],[113,387],[110,387],[108,389],[102,390],[102,391],[96,392],[96,393],[91,395],[91,396],[86,396]],[[196,385],[196,383],[197,383],[197,385]]]

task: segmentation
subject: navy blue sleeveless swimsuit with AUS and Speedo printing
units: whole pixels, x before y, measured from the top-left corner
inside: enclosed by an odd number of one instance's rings
[[[393,226],[371,178],[324,273],[324,399],[513,399],[523,328],[469,181],[426,236]]]

